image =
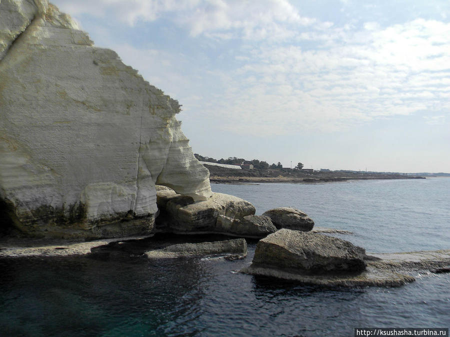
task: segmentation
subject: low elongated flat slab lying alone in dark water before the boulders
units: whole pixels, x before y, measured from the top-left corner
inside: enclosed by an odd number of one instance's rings
[[[244,239],[215,242],[186,243],[171,245],[163,249],[145,253],[149,259],[171,259],[207,255],[224,255],[227,259],[243,258],[247,255],[247,243]]]

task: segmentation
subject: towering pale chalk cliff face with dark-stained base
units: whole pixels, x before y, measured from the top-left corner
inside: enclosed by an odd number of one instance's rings
[[[206,200],[179,111],[46,0],[0,0],[0,227],[144,234],[155,184]]]

